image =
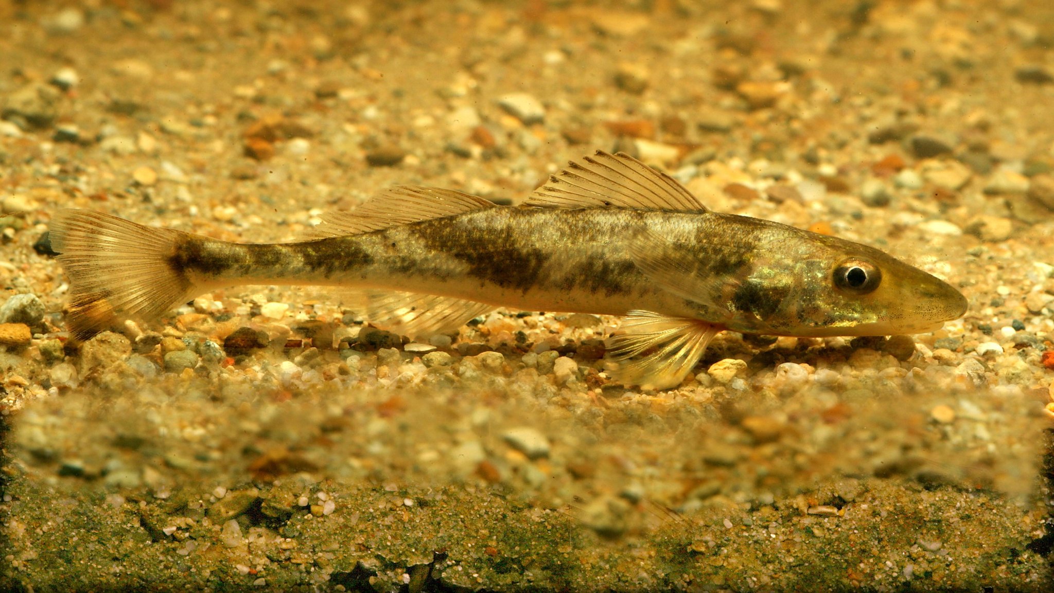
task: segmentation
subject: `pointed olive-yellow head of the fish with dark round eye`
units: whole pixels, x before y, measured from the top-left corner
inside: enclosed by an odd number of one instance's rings
[[[730,330],[802,337],[940,329],[967,311],[948,282],[877,249],[798,231],[731,282]]]

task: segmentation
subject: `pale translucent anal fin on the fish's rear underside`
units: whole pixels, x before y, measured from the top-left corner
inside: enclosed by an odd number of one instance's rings
[[[370,323],[410,337],[453,332],[495,309],[474,300],[399,291],[363,291],[360,295]]]

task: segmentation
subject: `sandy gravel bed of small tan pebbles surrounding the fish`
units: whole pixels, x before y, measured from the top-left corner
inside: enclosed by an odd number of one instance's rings
[[[0,589],[1049,589],[1040,4],[0,3]],[[393,183],[514,204],[597,149],[970,310],[725,334],[653,392],[605,373],[618,319],[413,343],[339,291],[75,344],[41,241],[63,206],[286,241]]]

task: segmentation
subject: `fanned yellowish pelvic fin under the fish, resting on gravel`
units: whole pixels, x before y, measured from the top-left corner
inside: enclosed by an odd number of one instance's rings
[[[651,311],[630,311],[622,322],[624,334],[610,338],[612,358],[619,363],[616,379],[644,389],[681,384],[702,358],[720,325]],[[640,358],[637,358],[637,357]]]

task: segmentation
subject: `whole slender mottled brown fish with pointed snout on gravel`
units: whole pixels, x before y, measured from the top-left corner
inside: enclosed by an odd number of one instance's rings
[[[321,218],[297,242],[239,243],[61,210],[50,234],[70,278],[67,328],[84,338],[223,288],[334,285],[365,295],[371,323],[409,336],[454,332],[500,307],[620,316],[612,378],[662,390],[723,331],[919,334],[968,304],[875,248],[714,212],[624,153],[570,161],[519,206],[395,185]]]

